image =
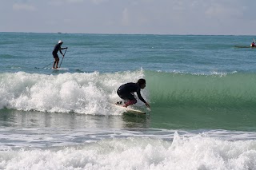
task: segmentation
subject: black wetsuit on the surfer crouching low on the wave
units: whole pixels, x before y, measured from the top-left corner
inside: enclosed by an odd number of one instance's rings
[[[146,103],[146,101],[143,99],[143,97],[141,95],[141,88],[137,83],[126,83],[124,85],[121,85],[117,91],[118,96],[121,97],[123,100],[137,102],[134,95],[132,94],[134,92],[137,93],[138,98],[143,103]]]

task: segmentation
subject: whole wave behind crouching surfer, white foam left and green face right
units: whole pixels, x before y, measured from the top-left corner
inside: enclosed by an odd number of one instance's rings
[[[153,108],[256,109],[255,73],[1,73],[0,109],[58,113],[118,114],[110,103],[119,100],[116,89],[146,78],[142,96]],[[138,101],[138,105],[143,105]]]

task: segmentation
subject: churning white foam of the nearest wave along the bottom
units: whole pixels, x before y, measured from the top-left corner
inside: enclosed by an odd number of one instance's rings
[[[204,135],[105,139],[53,149],[0,151],[1,169],[255,169],[256,141]]]

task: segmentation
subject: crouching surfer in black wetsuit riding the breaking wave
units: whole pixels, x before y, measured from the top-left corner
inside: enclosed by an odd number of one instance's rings
[[[126,101],[125,105],[122,105],[124,107],[127,107],[129,105],[134,105],[137,103],[137,100],[134,97],[134,92],[137,93],[138,98],[145,103],[145,105],[150,108],[150,105],[143,99],[141,95],[141,89],[144,89],[146,87],[146,80],[145,79],[139,79],[137,83],[126,83],[124,85],[121,85],[118,88],[118,96],[121,97],[123,100]],[[120,102],[119,102],[120,103]],[[118,104],[119,104],[118,103]]]

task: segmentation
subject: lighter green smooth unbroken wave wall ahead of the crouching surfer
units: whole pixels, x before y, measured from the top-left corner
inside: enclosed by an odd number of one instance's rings
[[[256,73],[146,72],[150,101],[155,105],[255,108]]]

